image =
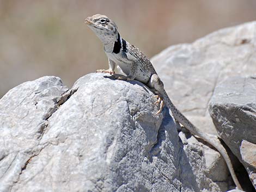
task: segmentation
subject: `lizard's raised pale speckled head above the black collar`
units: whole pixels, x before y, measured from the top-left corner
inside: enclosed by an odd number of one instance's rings
[[[117,25],[106,15],[96,14],[87,17],[85,23],[104,44],[109,44],[117,39]]]

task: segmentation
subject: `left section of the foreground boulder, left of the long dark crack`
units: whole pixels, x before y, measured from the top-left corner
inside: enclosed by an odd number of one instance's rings
[[[48,118],[71,91],[58,77],[42,77],[11,89],[0,100],[0,191],[19,182],[36,156]]]

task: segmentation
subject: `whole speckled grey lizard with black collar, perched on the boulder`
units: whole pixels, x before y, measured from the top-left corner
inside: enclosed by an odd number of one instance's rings
[[[115,24],[106,15],[96,14],[91,17],[87,17],[85,20],[87,26],[93,30],[96,36],[101,40],[104,45],[104,51],[108,57],[109,69],[97,70],[96,72],[109,73],[115,75],[115,66],[119,67],[121,71],[126,75],[118,75],[115,78],[119,80],[138,80],[147,85],[153,90],[157,101],[155,104],[160,105],[160,109],[156,115],[162,112],[164,104],[170,109],[173,117],[181,125],[183,125],[193,135],[203,139],[206,143],[214,146],[218,150],[225,162],[227,163],[231,177],[237,187],[242,189],[241,185],[235,175],[233,165],[228,156],[227,151],[221,144],[216,135],[211,135],[200,131],[194,126],[172,103],[164,90],[163,82],[157,75],[153,64],[151,64],[147,55],[145,55],[140,49],[131,45],[129,42],[121,38],[117,24]]]

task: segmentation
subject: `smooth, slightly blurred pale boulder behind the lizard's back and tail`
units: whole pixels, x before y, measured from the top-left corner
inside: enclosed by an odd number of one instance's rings
[[[198,127],[216,133],[208,103],[218,83],[256,74],[256,22],[218,30],[151,59],[174,104]]]

